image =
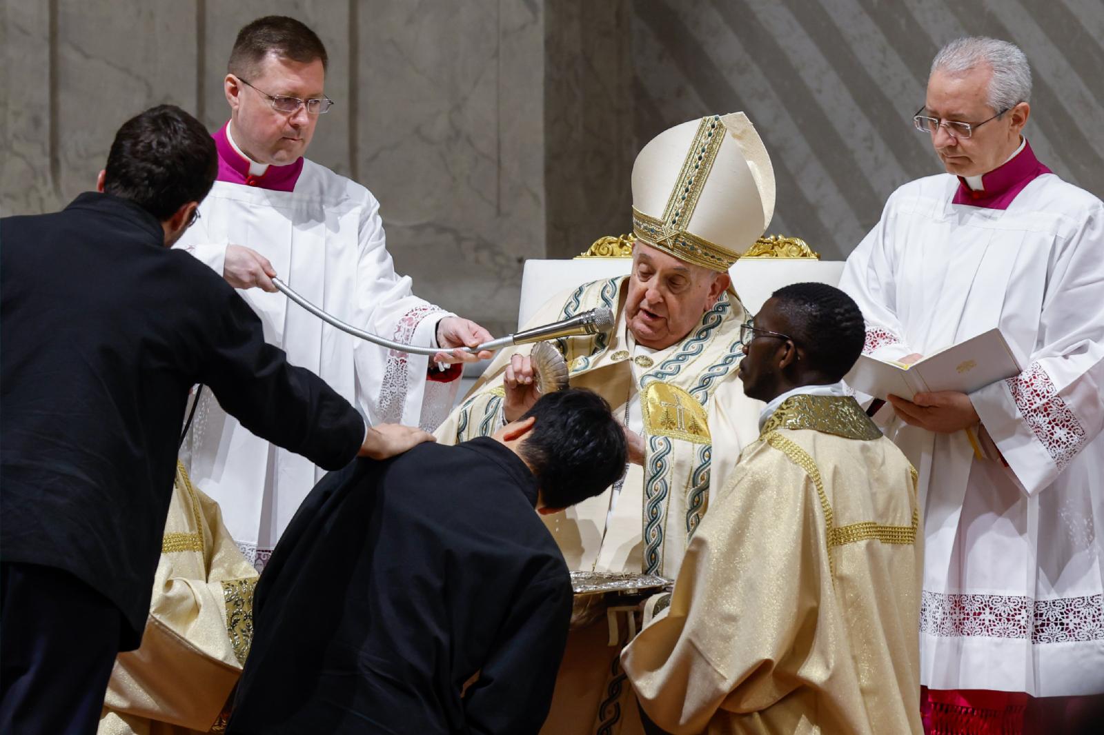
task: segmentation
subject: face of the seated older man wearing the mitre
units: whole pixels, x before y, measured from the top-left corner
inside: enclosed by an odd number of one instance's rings
[[[662,350],[680,341],[729,287],[729,275],[691,265],[637,241],[625,315],[634,339]]]

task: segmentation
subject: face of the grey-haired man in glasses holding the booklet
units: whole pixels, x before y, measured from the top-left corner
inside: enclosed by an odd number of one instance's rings
[[[941,120],[977,124],[1000,110],[988,103],[989,78],[992,70],[978,66],[965,74],[935,72],[927,81],[926,111],[921,113]],[[1027,121],[1027,104],[1020,103],[1000,117],[975,128],[969,138],[956,138],[946,126],[932,134],[932,147],[947,173],[976,177],[988,173],[1001,163],[1020,145],[1020,130]]]

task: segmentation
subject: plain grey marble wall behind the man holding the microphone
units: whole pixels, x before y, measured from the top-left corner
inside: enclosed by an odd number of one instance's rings
[[[380,199],[421,296],[501,332],[545,254],[543,8],[512,0],[4,0],[3,214],[91,189],[115,130],[173,103],[214,129],[237,29],[301,19],[330,56],[309,156]]]

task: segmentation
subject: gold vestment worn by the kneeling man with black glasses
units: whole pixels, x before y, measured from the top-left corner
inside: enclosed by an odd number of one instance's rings
[[[853,398],[784,401],[622,656],[648,716],[676,734],[923,732],[915,486]]]

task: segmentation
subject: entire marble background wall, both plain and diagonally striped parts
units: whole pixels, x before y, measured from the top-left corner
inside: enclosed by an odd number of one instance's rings
[[[885,196],[940,170],[909,118],[940,45],[1019,43],[1028,135],[1104,194],[1102,0],[2,0],[0,211],[91,188],[123,120],[171,102],[227,116],[237,29],[300,18],[330,53],[337,106],[309,155],[380,199],[421,295],[500,332],[522,263],[629,226],[639,147],[745,110],[778,182],[771,232],[842,257]]]

